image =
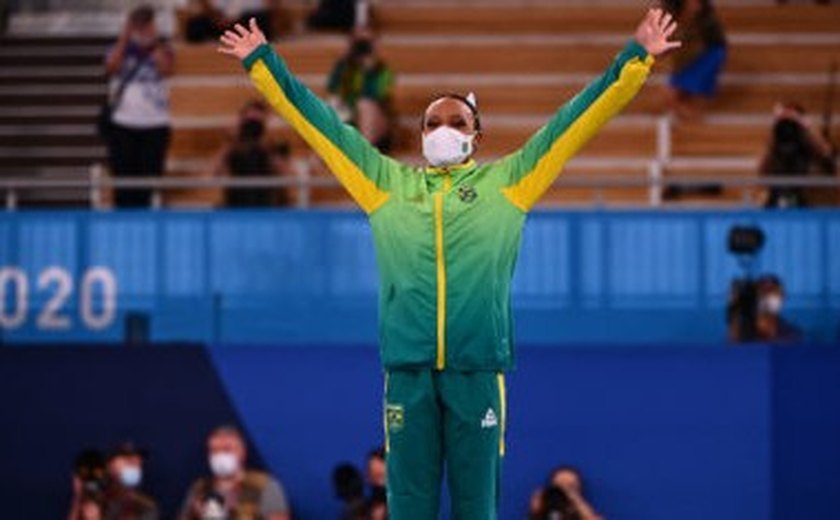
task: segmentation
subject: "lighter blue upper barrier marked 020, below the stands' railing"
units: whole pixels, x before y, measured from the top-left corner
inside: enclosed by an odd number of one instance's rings
[[[735,223],[766,232],[758,269],[784,279],[808,340],[835,340],[838,211],[535,213],[514,283],[517,337],[721,341]],[[156,341],[373,343],[376,290],[357,212],[0,214],[0,341],[113,342],[140,313]]]

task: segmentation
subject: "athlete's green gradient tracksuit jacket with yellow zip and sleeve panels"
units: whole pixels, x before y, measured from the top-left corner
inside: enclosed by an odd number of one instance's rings
[[[563,165],[638,92],[653,57],[635,41],[519,150],[496,162],[417,168],[380,154],[299,82],[271,46],[251,80],[370,220],[386,369],[508,369],[510,287],[528,211]]]

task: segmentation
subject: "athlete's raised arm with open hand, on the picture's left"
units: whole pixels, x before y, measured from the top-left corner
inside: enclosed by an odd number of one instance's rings
[[[326,163],[353,199],[373,213],[388,199],[388,162],[356,129],[295,78],[252,18],[220,38],[219,52],[242,60],[272,107]]]

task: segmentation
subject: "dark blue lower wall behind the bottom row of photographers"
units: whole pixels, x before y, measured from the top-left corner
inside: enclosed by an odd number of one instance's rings
[[[523,348],[499,518],[560,463],[610,519],[836,518],[838,373],[840,347]],[[0,349],[3,518],[63,518],[76,451],[124,438],[170,518],[232,422],[298,520],[332,520],[330,472],[381,442],[381,399],[373,346]]]

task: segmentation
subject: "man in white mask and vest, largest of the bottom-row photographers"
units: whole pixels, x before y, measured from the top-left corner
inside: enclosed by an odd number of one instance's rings
[[[198,479],[181,508],[181,520],[258,518],[288,520],[282,486],[268,473],[246,467],[245,439],[231,426],[219,427],[207,439],[212,475]]]

